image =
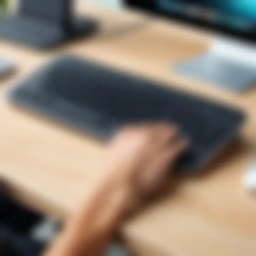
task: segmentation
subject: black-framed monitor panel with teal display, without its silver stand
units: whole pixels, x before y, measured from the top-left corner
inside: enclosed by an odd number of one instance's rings
[[[127,4],[256,40],[256,0],[127,0]]]

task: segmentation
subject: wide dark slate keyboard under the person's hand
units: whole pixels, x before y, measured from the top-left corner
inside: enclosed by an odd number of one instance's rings
[[[61,57],[10,92],[16,105],[109,139],[127,123],[178,124],[191,147],[178,161],[181,171],[201,169],[238,136],[244,114],[90,61]]]

